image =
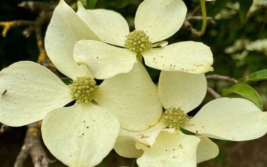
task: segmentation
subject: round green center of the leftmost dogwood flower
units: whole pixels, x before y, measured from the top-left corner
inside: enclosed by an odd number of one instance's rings
[[[94,94],[99,89],[99,86],[96,85],[94,79],[90,77],[77,77],[76,80],[72,81],[72,84],[69,85],[70,95],[73,99],[76,99],[77,102],[84,102],[88,104],[93,100]]]

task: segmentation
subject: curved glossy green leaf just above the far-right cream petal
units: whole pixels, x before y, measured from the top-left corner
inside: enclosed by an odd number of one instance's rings
[[[258,108],[263,110],[261,98],[259,94],[247,84],[235,84],[229,89],[222,90],[222,96],[227,96],[231,93],[236,93],[240,96],[252,101]]]

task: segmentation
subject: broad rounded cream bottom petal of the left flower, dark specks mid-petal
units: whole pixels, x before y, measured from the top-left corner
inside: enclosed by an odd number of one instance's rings
[[[45,145],[70,167],[99,164],[113,149],[119,130],[114,114],[91,103],[52,110],[42,123]]]

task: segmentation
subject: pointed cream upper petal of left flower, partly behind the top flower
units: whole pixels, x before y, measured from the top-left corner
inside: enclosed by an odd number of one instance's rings
[[[56,7],[45,35],[45,50],[49,59],[71,79],[88,74],[73,59],[74,44],[81,39],[100,40],[77,14],[61,0]]]

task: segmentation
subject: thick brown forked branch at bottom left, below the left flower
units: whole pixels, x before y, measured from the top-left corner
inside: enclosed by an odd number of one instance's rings
[[[24,144],[17,156],[14,167],[22,167],[29,155],[32,157],[34,167],[48,167],[48,164],[52,161],[48,159],[42,146],[40,123],[28,124],[27,127]]]

